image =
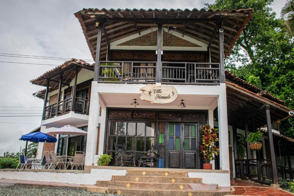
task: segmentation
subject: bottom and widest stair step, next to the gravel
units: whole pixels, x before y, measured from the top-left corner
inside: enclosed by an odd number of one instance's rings
[[[108,188],[108,187],[87,187],[87,191],[101,193],[118,193],[132,196],[223,196],[233,192],[233,190],[216,191],[195,191],[195,190],[151,190],[151,189],[131,189],[131,188]]]

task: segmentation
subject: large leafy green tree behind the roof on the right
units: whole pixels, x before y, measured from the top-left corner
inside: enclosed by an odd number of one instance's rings
[[[269,91],[284,100],[286,106],[294,108],[294,42],[285,29],[285,20],[276,18],[270,8],[273,2],[216,0],[206,6],[221,10],[253,9],[253,17],[225,60],[225,66],[238,77]],[[236,62],[242,65],[237,67]],[[285,122],[281,128],[287,131],[282,133],[291,136],[293,131],[289,125]]]

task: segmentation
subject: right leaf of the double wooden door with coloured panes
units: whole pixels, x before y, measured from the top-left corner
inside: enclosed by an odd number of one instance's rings
[[[198,169],[198,126],[197,123],[183,123],[182,168]]]

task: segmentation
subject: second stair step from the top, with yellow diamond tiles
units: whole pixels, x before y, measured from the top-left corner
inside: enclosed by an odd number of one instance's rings
[[[201,184],[202,178],[194,177],[166,177],[166,176],[136,176],[136,175],[113,175],[113,181],[123,182],[153,182],[153,183],[192,183]],[[173,181],[172,181],[173,180]]]

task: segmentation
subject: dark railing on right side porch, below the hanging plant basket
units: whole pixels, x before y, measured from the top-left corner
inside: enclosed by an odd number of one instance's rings
[[[237,159],[235,160],[236,177],[271,184],[273,171],[270,160],[266,159]]]

